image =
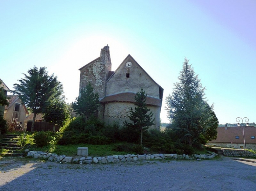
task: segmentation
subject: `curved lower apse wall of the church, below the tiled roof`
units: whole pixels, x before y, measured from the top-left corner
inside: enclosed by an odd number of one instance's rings
[[[118,122],[120,126],[123,126],[123,122],[126,120],[130,122],[128,115],[130,114],[130,108],[135,108],[133,103],[127,102],[110,102],[105,104],[105,116],[104,121],[107,124],[113,124]],[[149,105],[148,108],[154,113],[155,125],[150,126],[150,129],[160,128],[160,108],[158,106]]]

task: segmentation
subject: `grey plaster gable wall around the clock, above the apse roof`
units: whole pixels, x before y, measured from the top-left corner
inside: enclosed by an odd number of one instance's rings
[[[132,62],[131,67],[126,67],[127,61]],[[126,74],[129,73],[129,78]],[[139,92],[143,87],[148,96],[159,98],[159,86],[137,65],[135,61],[124,60],[119,69],[109,79],[106,85],[106,95],[121,93],[124,91]]]

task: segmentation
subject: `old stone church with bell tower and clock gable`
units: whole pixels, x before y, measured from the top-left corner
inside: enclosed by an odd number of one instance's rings
[[[154,125],[150,128],[160,128],[160,111],[163,101],[163,88],[159,86],[130,54],[123,60],[115,71],[111,71],[109,46],[103,47],[100,57],[81,67],[80,86],[90,82],[94,93],[99,94],[101,106],[99,118],[106,124],[114,122],[123,125],[130,108],[135,108],[135,95],[143,88],[147,94],[146,104],[154,113]]]

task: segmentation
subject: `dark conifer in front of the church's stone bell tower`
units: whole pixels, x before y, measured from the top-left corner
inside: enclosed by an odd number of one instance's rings
[[[80,96],[76,97],[75,100],[72,102],[74,111],[86,119],[94,116],[100,105],[99,94],[93,93],[93,87],[90,83],[86,88],[81,89]]]

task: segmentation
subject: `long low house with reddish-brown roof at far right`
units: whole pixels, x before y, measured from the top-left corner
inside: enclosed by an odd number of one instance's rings
[[[218,127],[217,139],[209,141],[207,145],[227,148],[241,148],[256,150],[256,127]],[[245,146],[244,146],[245,142]]]

